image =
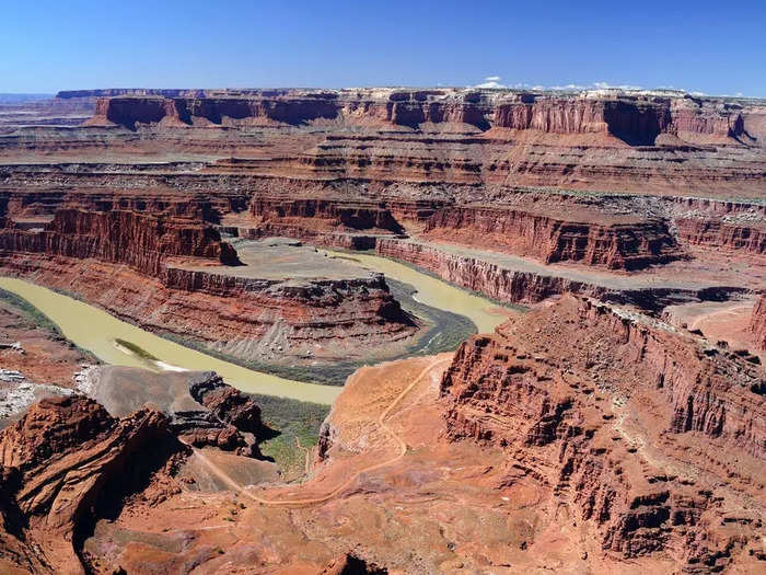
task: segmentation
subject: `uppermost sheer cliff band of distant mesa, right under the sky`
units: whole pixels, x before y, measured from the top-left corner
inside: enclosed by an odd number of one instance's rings
[[[104,93],[90,125],[131,129],[199,123],[283,123],[315,119],[351,124],[465,124],[548,134],[604,134],[634,146],[652,146],[661,134],[739,138],[746,127],[742,105],[683,93],[603,91],[546,94],[483,90],[239,91],[202,93],[127,91]],[[65,95],[66,97],[66,95]]]

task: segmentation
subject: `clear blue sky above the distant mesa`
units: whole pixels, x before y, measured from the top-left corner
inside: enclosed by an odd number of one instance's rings
[[[766,96],[766,0],[4,0],[0,92],[629,84]]]

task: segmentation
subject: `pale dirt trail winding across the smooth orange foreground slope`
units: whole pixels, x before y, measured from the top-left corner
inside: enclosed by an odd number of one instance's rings
[[[351,485],[357,479],[362,473],[369,473],[370,471],[375,471],[378,469],[384,468],[386,465],[390,465],[392,463],[397,462],[399,459],[402,459],[406,453],[407,453],[407,444],[405,442],[402,437],[399,437],[388,425],[385,423],[385,419],[388,418],[391,412],[396,407],[396,405],[404,399],[407,393],[409,393],[415,386],[420,383],[422,379],[437,366],[446,364],[452,361],[451,357],[443,358],[443,359],[434,359],[431,361],[428,366],[426,366],[420,373],[405,388],[402,390],[402,392],[396,395],[394,401],[392,401],[388,406],[383,410],[383,412],[378,416],[378,425],[384,429],[385,432],[391,435],[391,437],[394,439],[394,441],[398,446],[398,453],[394,456],[391,459],[387,459],[385,461],[381,461],[380,463],[375,463],[374,465],[369,465],[367,468],[360,469],[359,471],[355,472],[350,478],[348,478],[346,481],[344,481],[340,485],[335,487],[333,491],[330,491],[328,494],[323,495],[321,497],[310,497],[305,499],[267,499],[264,497],[259,497],[258,495],[252,494],[249,491],[247,491],[246,487],[240,485],[236,481],[234,481],[225,471],[223,471],[221,468],[219,468],[216,463],[210,461],[202,452],[200,452],[198,449],[194,449],[195,456],[199,457],[199,459],[207,464],[210,470],[219,476],[223,482],[225,482],[228,485],[232,486],[235,491],[244,495],[245,497],[248,497],[253,499],[256,503],[259,503],[262,505],[274,505],[274,506],[289,506],[289,505],[297,505],[297,506],[302,506],[302,505],[315,505],[317,503],[324,503],[326,501],[332,499],[333,497],[337,496],[340,492],[343,492],[345,488],[347,488],[349,485]]]

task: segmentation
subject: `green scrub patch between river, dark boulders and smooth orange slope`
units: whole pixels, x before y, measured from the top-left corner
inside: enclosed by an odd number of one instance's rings
[[[279,435],[260,444],[260,451],[274,460],[285,481],[297,481],[305,472],[305,457],[320,440],[320,426],[329,405],[272,395],[253,394],[264,423]]]

